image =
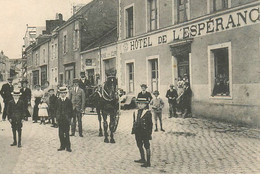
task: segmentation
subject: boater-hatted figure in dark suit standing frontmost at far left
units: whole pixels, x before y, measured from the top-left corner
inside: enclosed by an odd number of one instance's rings
[[[22,93],[19,90],[15,90],[12,92],[13,99],[11,99],[8,103],[7,108],[7,116],[8,120],[12,125],[13,131],[13,144],[11,146],[17,145],[16,139],[16,131],[18,132],[18,147],[22,147],[21,140],[22,140],[22,120],[25,117],[25,108],[24,102],[21,100],[20,96]]]

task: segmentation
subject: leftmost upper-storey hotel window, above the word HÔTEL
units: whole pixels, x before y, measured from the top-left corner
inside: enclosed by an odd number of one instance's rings
[[[133,7],[126,9],[126,37],[134,36],[134,13]]]

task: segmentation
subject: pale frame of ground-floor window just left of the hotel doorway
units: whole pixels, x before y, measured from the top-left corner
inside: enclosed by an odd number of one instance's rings
[[[146,84],[148,86],[148,88],[150,87],[150,92],[151,92],[151,84],[149,83],[149,61],[152,59],[157,59],[158,60],[158,90],[161,90],[161,68],[160,68],[160,55],[152,55],[152,56],[148,56],[146,57]]]

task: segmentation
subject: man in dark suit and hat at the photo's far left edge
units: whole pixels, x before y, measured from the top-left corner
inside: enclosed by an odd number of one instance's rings
[[[5,119],[6,119],[8,103],[13,98],[11,93],[14,90],[14,87],[13,87],[13,84],[12,84],[13,83],[13,79],[12,78],[8,78],[7,81],[8,81],[8,83],[4,84],[2,86],[1,91],[0,91],[0,94],[1,94],[1,96],[3,98],[3,102],[5,104],[3,115],[2,115],[3,121],[5,121]]]

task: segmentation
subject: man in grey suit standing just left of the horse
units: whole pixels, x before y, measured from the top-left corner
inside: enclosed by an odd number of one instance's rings
[[[85,92],[79,87],[79,80],[73,80],[73,87],[70,91],[70,99],[73,106],[73,117],[71,124],[71,135],[75,136],[76,122],[78,121],[79,136],[83,137],[82,134],[82,114],[85,110]]]

